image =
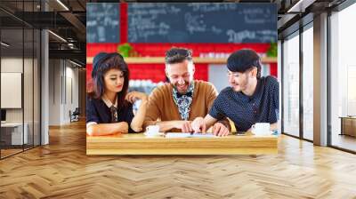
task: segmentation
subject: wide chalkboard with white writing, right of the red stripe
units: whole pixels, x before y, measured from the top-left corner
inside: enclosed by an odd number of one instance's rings
[[[271,43],[276,4],[128,4],[129,43]]]

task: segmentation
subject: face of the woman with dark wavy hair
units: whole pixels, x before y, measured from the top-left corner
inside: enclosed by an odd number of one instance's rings
[[[109,69],[104,75],[105,92],[121,92],[124,87],[124,73],[116,68]]]

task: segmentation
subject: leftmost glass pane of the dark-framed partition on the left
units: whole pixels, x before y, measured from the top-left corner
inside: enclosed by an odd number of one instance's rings
[[[27,143],[27,125],[23,125],[23,29],[1,30],[1,157],[22,151]],[[4,45],[6,44],[6,45]]]

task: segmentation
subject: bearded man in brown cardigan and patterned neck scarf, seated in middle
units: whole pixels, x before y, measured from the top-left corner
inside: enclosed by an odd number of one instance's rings
[[[213,84],[194,80],[195,67],[189,49],[169,49],[165,64],[169,83],[151,92],[143,125],[158,125],[159,131],[191,132],[191,121],[208,113],[218,93]],[[224,117],[212,126],[217,136],[231,128]]]

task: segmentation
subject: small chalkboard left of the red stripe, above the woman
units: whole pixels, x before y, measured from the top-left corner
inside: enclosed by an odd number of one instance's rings
[[[86,42],[120,42],[120,6],[117,3],[86,4]]]

